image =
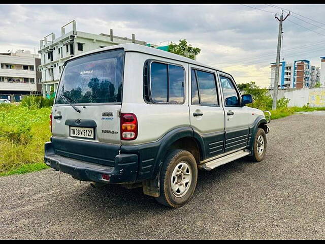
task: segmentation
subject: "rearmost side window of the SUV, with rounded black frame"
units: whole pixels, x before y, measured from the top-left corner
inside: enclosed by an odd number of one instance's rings
[[[162,104],[184,103],[184,80],[185,72],[181,66],[152,62],[149,80],[145,74],[145,100]]]

